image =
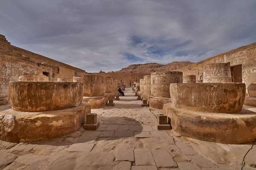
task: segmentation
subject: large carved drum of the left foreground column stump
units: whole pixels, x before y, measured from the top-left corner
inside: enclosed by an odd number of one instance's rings
[[[81,105],[83,88],[76,82],[9,82],[9,99],[15,111],[55,111]]]

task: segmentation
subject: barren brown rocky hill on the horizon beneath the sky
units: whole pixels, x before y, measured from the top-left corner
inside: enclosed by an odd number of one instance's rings
[[[175,71],[176,69],[185,67],[191,63],[193,62],[190,62],[190,61],[171,62],[166,65],[158,64],[158,63],[133,64],[115,72],[116,73],[152,73],[155,71]]]

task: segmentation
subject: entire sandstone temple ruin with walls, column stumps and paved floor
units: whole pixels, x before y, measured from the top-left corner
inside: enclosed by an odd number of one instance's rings
[[[0,35],[0,169],[236,169],[256,140],[255,48],[175,71],[87,73]]]

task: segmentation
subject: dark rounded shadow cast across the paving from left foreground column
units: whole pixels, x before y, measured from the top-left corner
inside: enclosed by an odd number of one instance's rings
[[[41,140],[37,142],[26,143],[39,145],[67,146],[76,143],[93,143],[94,140],[117,140],[122,138],[134,137],[134,132],[135,134],[141,133],[141,123],[135,119],[119,116],[99,116],[99,118],[100,121],[103,121],[104,123],[100,124],[96,131],[84,130],[84,132],[82,132],[79,137],[72,137],[72,133],[70,133],[67,134],[66,136],[60,136],[49,140]]]

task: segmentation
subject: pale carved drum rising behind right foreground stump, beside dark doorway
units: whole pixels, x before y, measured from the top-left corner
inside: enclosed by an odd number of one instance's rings
[[[230,62],[204,65],[203,82],[231,82]]]

